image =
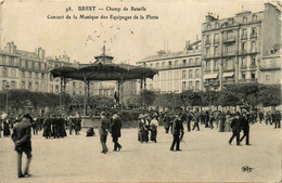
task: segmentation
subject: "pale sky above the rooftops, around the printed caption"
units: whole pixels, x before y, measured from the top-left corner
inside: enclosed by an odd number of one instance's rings
[[[114,56],[115,63],[134,64],[159,50],[182,51],[185,41],[195,41],[196,35],[201,39],[202,23],[208,12],[219,18],[232,17],[242,10],[264,11],[265,2],[268,1],[5,0],[0,10],[0,42],[1,49],[10,41],[14,41],[18,50],[35,51],[41,47],[48,56],[67,54],[70,61],[80,63],[93,62],[105,43],[106,53]],[[78,11],[79,6],[95,8],[94,11]],[[130,11],[131,6],[146,11]],[[66,12],[68,8],[72,11]],[[119,12],[116,11],[118,8],[121,9]],[[124,8],[129,10],[124,11]],[[48,15],[69,15],[72,18],[51,19]],[[99,18],[84,19],[80,15]],[[101,15],[108,18],[101,19]],[[115,21],[111,15],[132,18]],[[133,19],[134,15],[138,19]],[[140,19],[140,15],[144,19]],[[146,19],[146,15],[158,18]]]

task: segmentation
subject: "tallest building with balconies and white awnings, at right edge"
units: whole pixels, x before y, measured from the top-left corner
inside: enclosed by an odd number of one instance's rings
[[[281,12],[244,11],[233,17],[206,16],[202,27],[204,87],[230,83],[279,83],[281,77]]]

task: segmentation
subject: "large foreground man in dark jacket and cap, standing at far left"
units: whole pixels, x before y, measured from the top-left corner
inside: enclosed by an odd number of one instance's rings
[[[31,161],[31,116],[26,114],[23,116],[23,120],[17,122],[13,129],[12,140],[15,144],[15,151],[17,153],[17,177],[30,177],[28,174],[29,164]],[[22,156],[26,154],[26,167],[24,174],[22,172]]]

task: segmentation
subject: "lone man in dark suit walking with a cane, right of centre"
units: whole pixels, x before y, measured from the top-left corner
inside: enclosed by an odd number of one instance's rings
[[[177,114],[176,118],[174,119],[171,132],[174,135],[174,141],[170,146],[170,151],[175,151],[175,145],[176,145],[176,151],[181,151],[180,136],[183,133],[183,125],[181,122],[180,114]]]

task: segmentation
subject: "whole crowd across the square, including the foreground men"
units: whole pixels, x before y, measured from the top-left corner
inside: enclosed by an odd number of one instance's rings
[[[245,140],[246,145],[249,143],[249,125],[259,121],[266,125],[274,125],[274,128],[281,128],[281,113],[279,110],[273,112],[247,112],[241,113],[230,112],[200,112],[195,110],[185,112],[154,112],[140,114],[138,118],[138,141],[140,143],[154,142],[157,143],[157,128],[159,125],[164,125],[165,133],[172,135],[172,142],[170,151],[181,151],[180,142],[183,140],[184,126],[187,131],[193,130],[200,131],[200,123],[202,127],[217,129],[218,132],[232,132],[232,135],[228,143],[231,145],[233,139],[236,140],[236,145],[241,145]],[[108,133],[111,133],[114,152],[119,152],[121,145],[118,143],[118,139],[121,136],[123,122],[117,113],[101,113],[99,135],[102,146],[101,153],[106,154],[108,152],[106,140]],[[11,134],[11,129],[13,130]],[[11,135],[15,151],[17,152],[17,171],[18,178],[29,177],[28,167],[31,160],[31,133],[38,134],[38,131],[43,130],[42,135],[46,139],[59,139],[67,135],[66,129],[69,130],[69,135],[75,131],[76,135],[79,135],[81,130],[81,117],[79,115],[65,117],[63,115],[47,116],[47,117],[31,117],[29,114],[20,115],[15,118],[2,115],[0,120],[0,134],[3,133],[4,138]],[[33,130],[33,131],[31,131]],[[240,135],[243,132],[243,135]],[[87,130],[86,136],[93,136],[93,128]],[[1,135],[0,135],[1,136]],[[24,173],[22,172],[22,154],[27,155],[27,165]]]

